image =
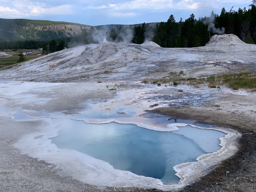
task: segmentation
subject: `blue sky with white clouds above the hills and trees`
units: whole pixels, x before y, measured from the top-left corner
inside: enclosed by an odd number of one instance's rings
[[[23,18],[81,23],[136,24],[167,21],[172,14],[176,21],[249,8],[252,0],[0,0],[0,18]]]

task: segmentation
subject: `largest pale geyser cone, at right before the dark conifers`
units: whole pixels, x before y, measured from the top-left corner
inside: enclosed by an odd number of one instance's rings
[[[213,35],[211,40],[206,44],[206,46],[221,46],[221,47],[241,47],[247,45],[239,39],[238,36],[233,34],[225,35]]]

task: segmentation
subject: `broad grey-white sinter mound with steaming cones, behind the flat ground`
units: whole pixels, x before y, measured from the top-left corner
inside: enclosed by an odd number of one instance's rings
[[[0,79],[138,81],[164,77],[181,70],[186,75],[184,77],[256,70],[255,45],[244,44],[235,35],[219,36],[217,40],[215,37],[207,46],[195,48],[162,48],[150,41],[141,45],[90,44],[21,63],[1,72]],[[227,46],[223,46],[225,43]]]

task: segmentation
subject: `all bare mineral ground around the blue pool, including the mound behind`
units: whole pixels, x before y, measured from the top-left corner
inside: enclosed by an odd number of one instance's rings
[[[152,84],[152,90],[145,92],[149,85],[140,83],[180,71],[186,79],[255,70],[256,45],[244,44],[235,35],[215,35],[205,47],[197,48],[162,48],[150,41],[141,45],[90,44],[0,71],[0,150],[3,154],[0,190],[154,191],[150,187],[88,185],[75,180],[65,170],[56,169],[55,164],[20,154],[17,144],[14,147],[24,135],[49,125],[48,120],[42,121],[39,117],[33,121],[17,121],[17,111],[35,117],[40,110],[76,114],[85,108],[82,103],[89,99],[106,100],[106,106],[102,106],[106,110],[107,99],[118,95],[123,99],[120,103],[141,106],[154,114],[233,128],[242,134],[237,141],[239,150],[233,157],[213,166],[208,175],[198,178],[194,184],[189,183],[183,191],[255,191],[255,92],[221,86],[211,93],[212,89],[204,84],[178,85],[171,89],[172,81],[160,86]],[[122,91],[129,94],[124,96]],[[206,98],[200,97],[204,95]],[[195,100],[195,96],[199,99]],[[142,107],[140,99],[150,102]],[[110,105],[113,107],[115,102]]]

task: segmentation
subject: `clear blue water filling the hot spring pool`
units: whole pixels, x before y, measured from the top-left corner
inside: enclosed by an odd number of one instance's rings
[[[153,131],[134,124],[114,122],[88,124],[61,119],[59,124],[59,136],[51,138],[58,148],[80,151],[110,163],[115,169],[158,178],[165,184],[179,181],[173,166],[193,162],[198,156],[206,154],[183,133]],[[209,138],[216,140],[223,135],[215,131],[215,134],[210,133]],[[220,148],[219,142],[214,150],[216,148]]]

